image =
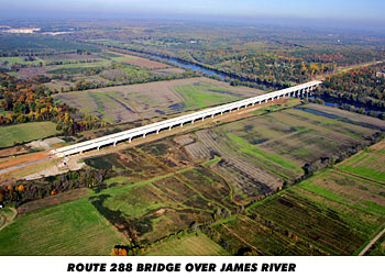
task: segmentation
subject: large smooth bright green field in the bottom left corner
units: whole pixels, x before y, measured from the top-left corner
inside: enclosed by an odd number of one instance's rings
[[[28,213],[0,231],[0,255],[109,255],[124,242],[80,199]]]

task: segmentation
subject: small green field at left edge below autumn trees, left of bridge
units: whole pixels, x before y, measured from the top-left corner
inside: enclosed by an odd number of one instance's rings
[[[55,135],[56,133],[56,124],[53,122],[34,122],[1,126],[0,147],[8,147],[15,143],[44,138]]]

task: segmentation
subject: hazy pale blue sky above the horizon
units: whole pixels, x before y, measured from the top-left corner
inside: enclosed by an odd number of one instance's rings
[[[380,0],[0,0],[0,20],[184,20],[385,31],[385,2]]]

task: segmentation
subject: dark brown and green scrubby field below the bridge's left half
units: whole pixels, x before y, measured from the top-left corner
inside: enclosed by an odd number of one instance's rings
[[[91,198],[92,203],[136,242],[153,243],[194,221],[210,220],[213,211],[237,209],[226,181],[194,166],[172,141],[86,163],[116,173]]]

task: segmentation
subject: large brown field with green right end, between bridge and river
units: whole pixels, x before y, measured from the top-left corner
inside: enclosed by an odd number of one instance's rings
[[[190,78],[65,92],[54,98],[108,122],[124,123],[222,104],[261,92],[208,78]]]

